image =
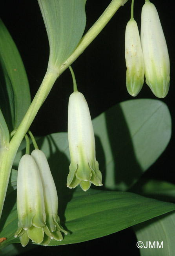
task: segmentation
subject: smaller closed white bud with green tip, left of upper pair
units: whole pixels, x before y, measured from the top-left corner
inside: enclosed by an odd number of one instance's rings
[[[137,22],[132,18],[125,32],[126,87],[131,96],[136,96],[144,83],[144,58]]]

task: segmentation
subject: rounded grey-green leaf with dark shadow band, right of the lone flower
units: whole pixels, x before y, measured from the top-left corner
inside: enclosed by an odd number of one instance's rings
[[[103,184],[131,187],[165,150],[171,137],[168,107],[159,100],[128,100],[93,120]],[[105,178],[104,178],[105,177]]]

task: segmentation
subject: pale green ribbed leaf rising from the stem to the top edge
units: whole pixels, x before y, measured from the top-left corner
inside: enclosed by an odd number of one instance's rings
[[[38,0],[50,46],[49,65],[59,71],[86,26],[86,0]]]

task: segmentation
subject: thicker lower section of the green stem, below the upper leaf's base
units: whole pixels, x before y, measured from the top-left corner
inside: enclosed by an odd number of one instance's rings
[[[40,85],[35,98],[33,99],[26,115],[24,116],[20,126],[16,130],[9,143],[9,149],[2,149],[0,153],[0,216],[4,205],[13,160],[15,158],[18,147],[26,135],[26,132],[29,130],[29,127],[31,126],[31,123],[33,122],[38,110],[42,106],[44,100],[47,98],[47,95],[49,94],[57,77],[58,73],[55,72],[55,70],[47,70],[44,80]]]

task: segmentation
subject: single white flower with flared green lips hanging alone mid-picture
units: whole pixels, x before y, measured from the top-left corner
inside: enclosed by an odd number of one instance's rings
[[[67,187],[87,191],[93,183],[102,186],[102,175],[95,158],[95,137],[88,104],[78,91],[69,97],[68,139],[71,164]]]

